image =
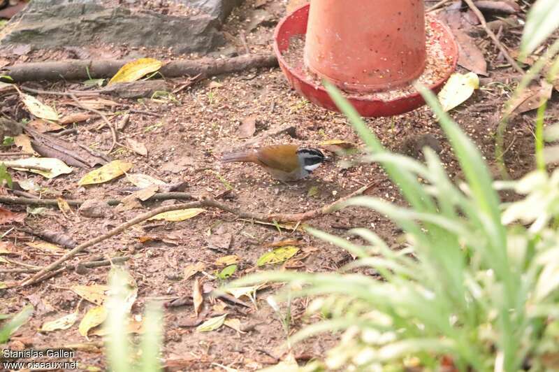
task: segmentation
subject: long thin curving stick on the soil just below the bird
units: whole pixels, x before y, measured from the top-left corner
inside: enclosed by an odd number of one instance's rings
[[[78,254],[82,250],[85,250],[85,248],[88,248],[88,247],[91,247],[92,245],[100,243],[101,241],[104,241],[104,240],[106,240],[106,239],[108,239],[112,236],[115,236],[115,235],[121,233],[122,231],[124,231],[126,229],[129,229],[129,227],[132,227],[135,224],[139,224],[140,222],[144,222],[145,220],[148,220],[151,217],[159,215],[160,213],[166,213],[166,212],[170,212],[172,210],[181,210],[181,209],[189,209],[189,208],[213,207],[213,208],[218,208],[218,209],[224,210],[224,211],[229,212],[229,213],[233,213],[234,215],[237,215],[240,218],[247,218],[247,219],[250,219],[250,220],[261,220],[261,221],[265,221],[265,222],[274,222],[274,221],[275,222],[301,222],[301,221],[305,221],[305,220],[311,220],[311,219],[319,217],[321,215],[326,215],[326,214],[334,212],[335,210],[337,210],[340,203],[343,203],[344,201],[347,201],[348,199],[350,199],[354,196],[363,194],[363,192],[365,192],[367,189],[369,189],[373,185],[375,185],[375,183],[370,183],[369,185],[365,185],[365,186],[361,187],[360,189],[357,189],[356,191],[351,192],[351,194],[349,194],[347,196],[344,196],[344,197],[338,199],[337,201],[334,201],[333,203],[328,204],[327,206],[323,206],[323,207],[315,209],[315,210],[309,210],[309,211],[304,212],[304,213],[288,213],[288,214],[274,213],[274,214],[270,214],[270,215],[266,215],[266,214],[263,214],[263,213],[251,213],[251,212],[246,212],[244,210],[241,210],[240,208],[236,208],[236,207],[233,207],[233,206],[228,206],[225,203],[221,203],[221,202],[213,200],[213,199],[201,199],[200,201],[194,201],[194,202],[191,202],[191,203],[180,203],[180,204],[175,204],[173,206],[162,206],[162,207],[159,207],[159,208],[155,208],[154,210],[150,210],[150,212],[143,213],[141,215],[138,215],[138,216],[134,217],[132,220],[129,220],[128,222],[124,222],[123,224],[120,224],[119,226],[115,227],[114,229],[108,231],[108,233],[106,233],[106,234],[103,234],[101,236],[97,236],[96,238],[90,239],[89,241],[85,241],[84,243],[78,245],[77,247],[73,248],[73,250],[66,253],[66,255],[60,257],[59,259],[57,259],[52,264],[46,266],[45,268],[43,268],[41,271],[36,273],[31,278],[29,278],[27,280],[24,280],[24,282],[21,282],[20,286],[24,287],[24,286],[27,286],[27,285],[34,285],[38,282],[41,282],[45,278],[50,278],[50,274],[49,274],[50,271],[53,271],[53,270],[57,269],[57,266],[60,266],[60,264],[62,264],[66,260],[71,259],[71,257],[75,256],[76,254]]]

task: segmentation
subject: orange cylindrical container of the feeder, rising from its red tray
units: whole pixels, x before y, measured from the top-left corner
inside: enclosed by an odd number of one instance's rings
[[[425,59],[423,0],[311,0],[305,65],[343,90],[406,85]]]

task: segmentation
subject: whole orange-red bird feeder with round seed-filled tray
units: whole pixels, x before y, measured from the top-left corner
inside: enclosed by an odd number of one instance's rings
[[[437,92],[458,60],[451,32],[426,19],[422,0],[311,0],[279,22],[274,48],[300,94],[337,110],[328,80],[367,117],[422,106],[413,84]]]

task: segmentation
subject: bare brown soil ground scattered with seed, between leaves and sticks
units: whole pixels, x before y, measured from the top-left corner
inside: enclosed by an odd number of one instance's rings
[[[279,19],[284,15],[283,1],[258,1],[260,9],[266,10]],[[427,3],[430,6],[432,3]],[[245,52],[242,38],[245,38],[250,52],[270,52],[270,40],[273,27],[262,25],[248,31],[246,25],[256,6],[256,0],[247,0],[235,10],[224,25],[224,31],[231,37],[233,48],[239,54]],[[520,36],[503,31],[501,41],[509,48],[518,48]],[[477,39],[489,64],[490,78],[500,81],[498,84],[486,85],[474,92],[474,95],[451,116],[460,127],[473,139],[486,157],[490,169],[496,178],[500,177],[495,163],[495,131],[502,113],[504,102],[509,99],[514,88],[514,80],[505,78],[514,76],[514,71],[503,66],[498,50],[488,42],[488,38]],[[231,46],[229,47],[231,48]],[[115,48],[111,45],[96,45],[101,53],[116,57],[136,57],[138,55],[168,59],[168,52],[161,50],[132,50]],[[34,50],[21,54],[3,52],[6,64],[24,61],[40,62],[50,59],[71,57],[68,50]],[[179,56],[171,56],[179,58]],[[460,72],[465,72],[459,69]],[[186,79],[169,80],[170,85],[180,87]],[[31,84],[30,84],[31,86]],[[55,84],[37,83],[34,87],[43,90],[83,89],[82,83],[59,82]],[[138,155],[127,148],[117,147],[112,152],[113,159],[131,162],[133,173],[144,173],[166,183],[187,183],[186,192],[195,196],[211,195],[226,197],[245,210],[260,213],[282,212],[298,213],[319,208],[326,203],[349,194],[350,192],[373,183],[367,194],[405,205],[396,187],[376,164],[358,164],[347,162],[346,157],[327,152],[334,161],[326,163],[314,171],[308,179],[299,183],[285,185],[270,179],[267,173],[254,164],[221,164],[219,156],[233,149],[242,148],[247,138],[238,138],[238,127],[249,118],[256,118],[258,136],[267,129],[284,124],[293,124],[296,132],[293,136],[280,134],[266,138],[259,145],[279,143],[296,143],[305,147],[318,147],[323,141],[341,139],[362,145],[362,141],[347,122],[347,119],[312,105],[291,90],[279,69],[245,71],[228,76],[218,76],[173,94],[158,99],[117,99],[118,106],[111,112],[102,108],[107,114],[123,113],[135,109],[145,113],[130,113],[129,124],[119,131],[119,141],[126,143],[126,138],[144,143],[147,156]],[[38,99],[57,108],[59,113],[79,112],[73,106],[64,106],[64,97],[42,96]],[[28,119],[28,114],[15,95],[0,96],[2,115],[15,120]],[[546,123],[556,122],[559,117],[559,105],[555,93],[549,103]],[[112,122],[118,123],[120,117],[109,115]],[[367,119],[370,129],[375,132],[386,148],[402,151],[421,158],[417,151],[408,151],[420,146],[414,145],[422,138],[438,141],[440,157],[452,178],[461,178],[460,168],[453,157],[449,142],[440,129],[433,113],[423,107],[396,117]],[[519,178],[534,168],[533,132],[535,113],[516,115],[507,127],[504,148],[504,161],[512,178]],[[77,133],[66,134],[65,141],[82,143],[99,151],[106,151],[112,143],[107,128],[98,130],[101,120],[89,120],[77,125]],[[428,136],[428,137],[426,137]],[[435,146],[435,145],[433,145]],[[2,148],[2,152],[13,152],[15,147]],[[18,159],[20,157],[3,157]],[[352,159],[352,158],[350,158]],[[41,197],[64,199],[112,199],[129,194],[133,185],[126,178],[118,178],[110,183],[78,186],[78,180],[89,170],[73,169],[73,173],[47,180],[41,176],[23,171],[12,171],[15,181],[33,181],[41,187]],[[232,190],[228,191],[228,185]],[[312,192],[310,192],[312,190]],[[2,189],[3,194],[10,194]],[[28,191],[38,194],[38,192]],[[64,215],[56,208],[48,208],[42,213],[29,215],[25,223],[38,231],[59,231],[72,236],[81,243],[106,233],[112,227],[130,220],[132,217],[162,203],[144,203],[142,209],[117,212],[108,209],[104,217],[85,217],[73,210],[73,214]],[[25,212],[24,206],[4,205],[13,212]],[[398,244],[402,231],[379,213],[364,208],[347,208],[331,215],[309,222],[313,227],[332,234],[347,236],[347,231],[354,227],[374,229],[389,244]],[[45,266],[53,262],[59,253],[45,252],[27,245],[38,239],[31,234],[18,231],[20,224],[3,225],[0,234],[6,233],[3,241],[13,243],[15,255],[8,258],[27,265]],[[15,229],[10,230],[11,227]],[[10,231],[8,231],[10,230]],[[147,238],[146,238],[147,237]],[[348,239],[359,242],[353,237]],[[256,260],[270,250],[270,243],[287,239],[296,239],[300,252],[284,264],[268,266],[266,269],[296,269],[299,271],[319,272],[336,271],[351,261],[352,257],[344,250],[335,248],[316,238],[305,234],[301,229],[285,229],[276,226],[236,220],[234,215],[215,209],[184,222],[148,221],[138,224],[113,238],[105,240],[87,249],[85,254],[71,262],[87,261],[92,257],[115,257],[129,255],[126,268],[138,283],[138,299],[132,311],[143,312],[145,303],[152,299],[171,301],[181,296],[190,296],[193,292],[194,279],[219,286],[214,278],[215,271],[223,266],[215,264],[216,259],[226,255],[238,255],[240,262],[233,278],[246,276],[248,273],[261,271],[256,267]],[[196,274],[184,279],[184,269],[189,264],[203,262],[205,272],[210,275]],[[14,269],[20,266],[0,263],[0,269]],[[45,321],[54,320],[71,313],[79,306],[83,315],[92,303],[83,301],[71,292],[73,285],[106,284],[108,266],[94,269],[67,271],[41,284],[32,287],[15,287],[0,289],[0,313],[15,313],[27,303],[33,303],[34,316],[18,329],[8,346],[17,348],[56,348],[75,343],[88,343],[78,333],[77,325],[66,329],[42,334],[37,331]],[[0,282],[24,280],[29,274],[0,274]],[[279,287],[271,286],[257,294],[258,308],[240,306],[222,300],[206,300],[203,311],[205,319],[221,313],[240,320],[245,333],[240,334],[229,327],[217,331],[200,333],[192,327],[194,309],[192,306],[166,308],[164,313],[164,349],[162,357],[170,370],[182,371],[222,371],[222,366],[240,371],[253,371],[265,366],[277,364],[285,357],[284,343],[286,332],[277,315],[266,303],[266,297],[274,294]],[[245,299],[246,300],[246,299]],[[314,317],[304,315],[308,299],[298,299],[291,304],[292,322],[289,334],[301,329],[305,324],[314,322]],[[285,311],[286,304],[281,304]],[[319,338],[309,338],[293,346],[293,355],[304,364],[308,359],[324,357],[326,350],[335,345],[336,334],[326,334]],[[90,336],[90,341],[101,341],[99,336]],[[97,348],[78,350],[75,360],[80,362],[80,369],[106,369],[106,361]]]

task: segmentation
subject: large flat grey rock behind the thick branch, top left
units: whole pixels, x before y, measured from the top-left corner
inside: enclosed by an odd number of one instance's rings
[[[207,14],[180,17],[107,8],[96,0],[34,0],[0,31],[0,45],[48,49],[112,43],[207,53],[225,43],[219,27]]]

